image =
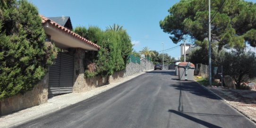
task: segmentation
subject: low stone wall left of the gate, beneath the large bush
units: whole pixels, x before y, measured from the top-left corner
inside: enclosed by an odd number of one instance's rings
[[[23,110],[47,102],[49,73],[25,94],[17,94],[0,100],[0,115]]]

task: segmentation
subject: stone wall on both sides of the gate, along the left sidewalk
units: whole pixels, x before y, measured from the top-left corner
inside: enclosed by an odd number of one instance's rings
[[[145,70],[154,69],[152,62],[143,59],[140,64],[132,62],[128,63],[126,69],[114,72],[113,75],[109,77],[98,76],[94,78],[84,78],[85,50],[76,49],[73,54],[75,61],[73,93],[90,91],[95,87],[106,85],[107,83],[111,83],[120,78],[128,77]],[[5,115],[47,102],[48,83],[49,73],[45,75],[43,80],[41,80],[33,90],[27,91],[25,94],[18,94],[0,100],[0,115]]]

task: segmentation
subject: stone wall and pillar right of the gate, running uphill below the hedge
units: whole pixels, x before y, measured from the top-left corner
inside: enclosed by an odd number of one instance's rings
[[[123,77],[128,77],[133,74],[154,69],[154,64],[146,59],[141,60],[140,64],[137,63],[128,63],[126,66],[126,69],[114,72],[111,76],[108,77],[101,77],[97,76],[94,78],[84,78],[84,66],[83,66],[83,58],[84,58],[85,52],[77,51],[75,53],[75,78],[74,78],[74,86],[73,86],[73,92],[79,93],[79,92],[86,92],[90,91],[96,87],[106,85],[108,83],[114,82],[116,80],[119,80]],[[78,73],[77,73],[78,72]]]

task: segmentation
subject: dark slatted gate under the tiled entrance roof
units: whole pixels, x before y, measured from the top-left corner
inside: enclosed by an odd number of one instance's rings
[[[74,56],[59,52],[55,64],[49,69],[48,97],[72,93]]]

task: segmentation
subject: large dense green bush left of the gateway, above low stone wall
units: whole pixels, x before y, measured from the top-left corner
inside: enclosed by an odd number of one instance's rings
[[[41,18],[26,0],[0,3],[0,99],[31,90],[44,77],[57,49],[45,42]]]

